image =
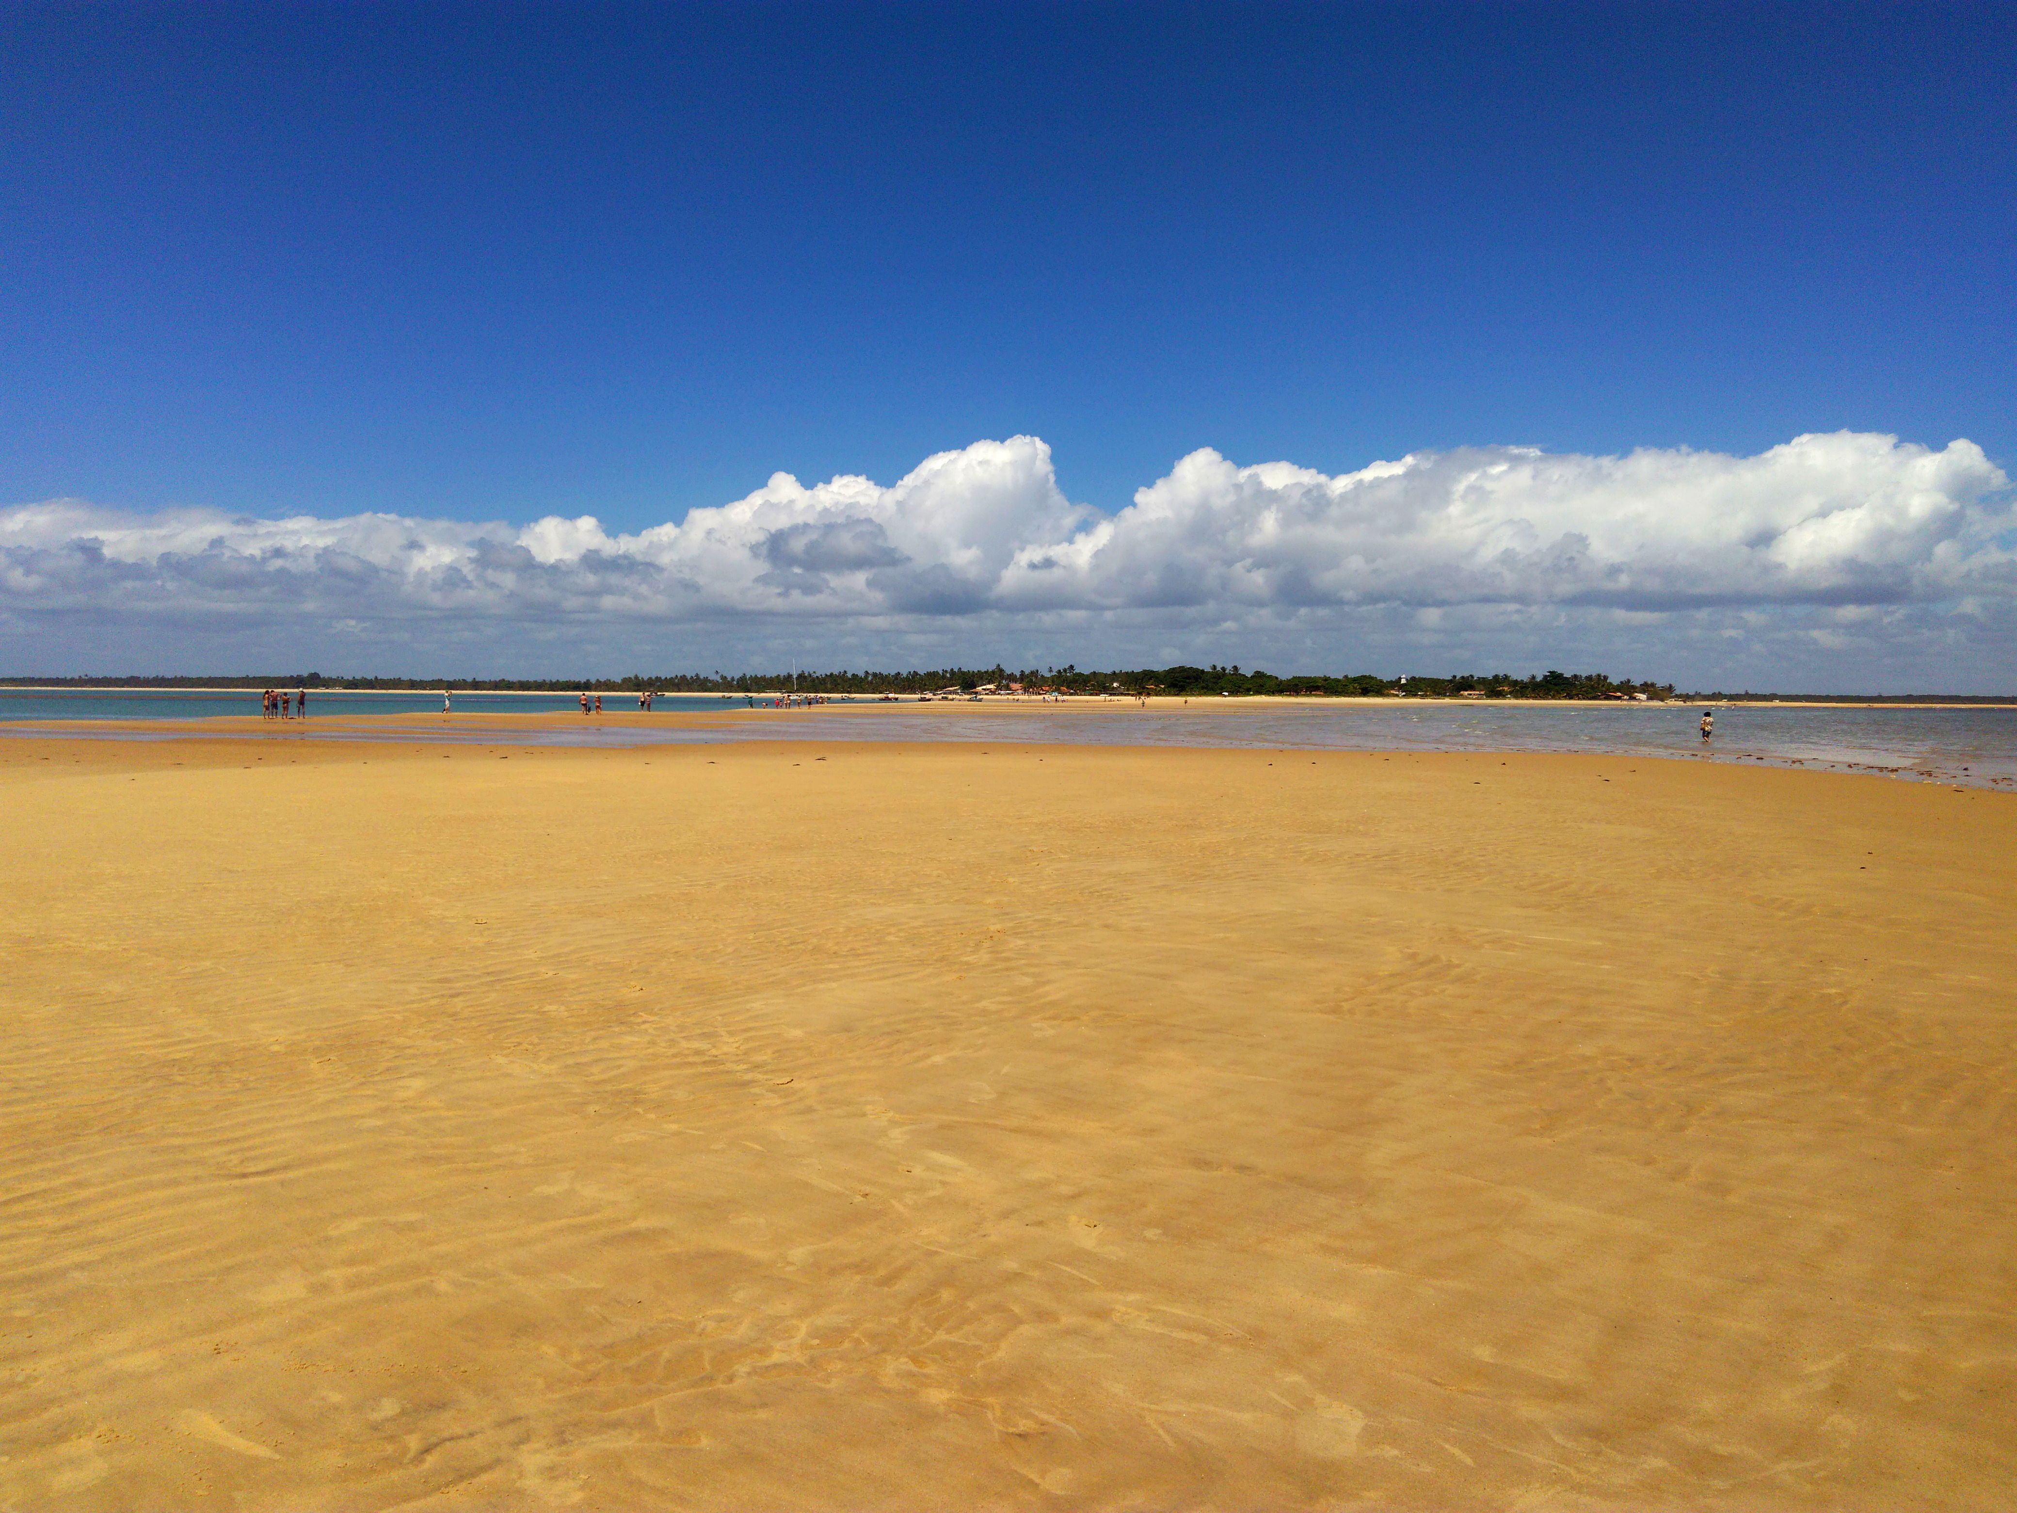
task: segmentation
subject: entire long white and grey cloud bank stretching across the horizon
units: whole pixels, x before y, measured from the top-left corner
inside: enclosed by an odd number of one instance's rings
[[[1045,442],[1015,436],[889,486],[775,474],[635,535],[593,516],[22,504],[0,510],[0,648],[48,672],[119,644],[325,646],[311,660],[327,666],[357,666],[345,646],[492,662],[664,648],[654,668],[738,648],[859,666],[1045,646],[1079,664],[1196,650],[1281,670],[1374,666],[1382,648],[1420,670],[1464,650],[1529,666],[1618,648],[1640,672],[1721,648],[1840,674],[1967,648],[1991,682],[2017,682],[2013,525],[2009,478],[1967,440],[1842,432],[1751,458],[1462,448],[1337,476],[1198,450],[1103,514],[1065,498]]]

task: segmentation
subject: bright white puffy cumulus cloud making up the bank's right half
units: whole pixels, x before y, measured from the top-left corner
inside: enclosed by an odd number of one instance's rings
[[[1894,603],[2009,583],[1973,442],[1801,436],[1755,458],[1466,448],[1325,476],[1192,452],[1006,597],[1087,605]]]

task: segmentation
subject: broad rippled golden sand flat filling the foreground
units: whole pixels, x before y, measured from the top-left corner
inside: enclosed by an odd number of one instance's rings
[[[1995,1507],[2017,799],[0,742],[0,1507]]]

